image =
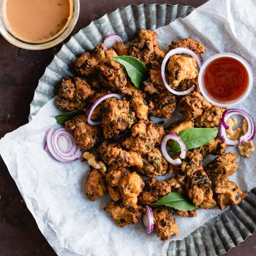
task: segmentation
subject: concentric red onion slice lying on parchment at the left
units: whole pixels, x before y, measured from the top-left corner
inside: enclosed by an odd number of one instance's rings
[[[48,130],[47,147],[53,157],[60,162],[73,162],[79,160],[82,155],[73,133],[64,128]]]

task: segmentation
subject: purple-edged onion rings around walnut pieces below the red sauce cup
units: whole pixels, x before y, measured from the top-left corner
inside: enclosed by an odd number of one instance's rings
[[[226,135],[226,129],[229,129],[227,120],[232,115],[242,115],[248,122],[248,131],[245,135],[241,136],[239,140],[232,141]],[[222,119],[219,124],[219,134],[222,141],[229,146],[235,146],[237,144],[243,144],[244,142],[251,141],[255,135],[255,123],[251,115],[242,109],[231,108],[223,112]]]

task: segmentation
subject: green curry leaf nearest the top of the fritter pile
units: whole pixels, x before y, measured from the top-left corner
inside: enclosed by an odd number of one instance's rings
[[[132,56],[116,56],[111,57],[110,60],[117,61],[125,67],[128,76],[136,88],[140,88],[141,83],[146,80],[148,69],[138,59]]]

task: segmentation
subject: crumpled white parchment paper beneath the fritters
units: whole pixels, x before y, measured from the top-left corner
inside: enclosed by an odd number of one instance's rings
[[[157,29],[159,43],[168,49],[171,40],[200,40],[207,48],[205,60],[220,52],[239,54],[256,77],[255,13],[254,0],[210,0],[188,17]],[[254,120],[255,97],[256,88],[237,106]],[[51,116],[60,113],[51,100],[29,124],[0,140],[0,154],[47,241],[59,255],[166,255],[168,242],[160,242],[155,232],[148,235],[141,221],[122,229],[115,224],[103,211],[108,195],[95,202],[88,200],[84,192],[87,162],[61,163],[43,150],[47,129],[58,128]],[[239,169],[230,177],[243,190],[256,187],[255,160],[256,154],[250,159],[240,157]],[[183,239],[221,212],[218,208],[199,209],[195,218],[175,215],[179,235],[171,239]]]

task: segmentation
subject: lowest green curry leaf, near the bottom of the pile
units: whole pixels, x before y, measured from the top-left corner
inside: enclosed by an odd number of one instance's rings
[[[165,205],[181,211],[190,211],[196,208],[195,205],[189,203],[183,195],[177,192],[170,192],[151,204]]]

